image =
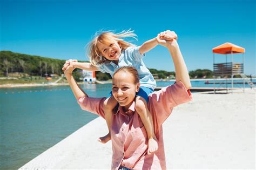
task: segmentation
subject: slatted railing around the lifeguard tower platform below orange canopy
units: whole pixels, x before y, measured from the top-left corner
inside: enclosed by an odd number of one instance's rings
[[[218,63],[213,64],[214,76],[231,76],[244,73],[244,64],[242,63]]]

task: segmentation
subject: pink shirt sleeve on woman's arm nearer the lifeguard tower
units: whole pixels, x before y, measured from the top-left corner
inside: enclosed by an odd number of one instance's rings
[[[152,93],[149,96],[149,104],[155,129],[157,130],[169,117],[173,107],[191,100],[190,90],[187,90],[181,81]]]

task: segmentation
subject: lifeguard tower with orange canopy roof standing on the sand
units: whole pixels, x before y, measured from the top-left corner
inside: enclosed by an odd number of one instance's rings
[[[232,43],[224,43],[212,49],[213,52],[213,78],[214,78],[214,93],[215,93],[215,77],[225,77],[226,78],[226,90],[227,88],[227,78],[231,77],[231,90],[233,92],[233,77],[234,75],[240,75],[243,79],[243,85],[245,89],[245,80],[247,83],[254,87],[253,83],[248,80],[248,78],[244,74],[244,53],[245,49],[238,45],[234,45]],[[214,53],[219,53],[226,56],[226,63],[215,63]],[[233,54],[234,53],[242,53],[242,63],[234,63],[233,62]],[[227,55],[231,55],[231,62],[227,62]]]

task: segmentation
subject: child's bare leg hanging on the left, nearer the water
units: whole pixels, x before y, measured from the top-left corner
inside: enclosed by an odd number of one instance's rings
[[[113,114],[113,108],[117,105],[117,100],[114,99],[113,96],[110,96],[104,101],[104,112],[105,112],[105,119],[107,123],[107,128],[109,128],[109,133],[107,133],[104,137],[100,137],[98,141],[105,144],[107,141],[111,139],[110,135],[110,126]]]

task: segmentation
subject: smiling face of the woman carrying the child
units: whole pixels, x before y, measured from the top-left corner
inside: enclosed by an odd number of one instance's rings
[[[131,73],[120,71],[114,74],[112,93],[119,105],[125,108],[125,111],[128,111],[138,91],[139,83],[134,84]]]

